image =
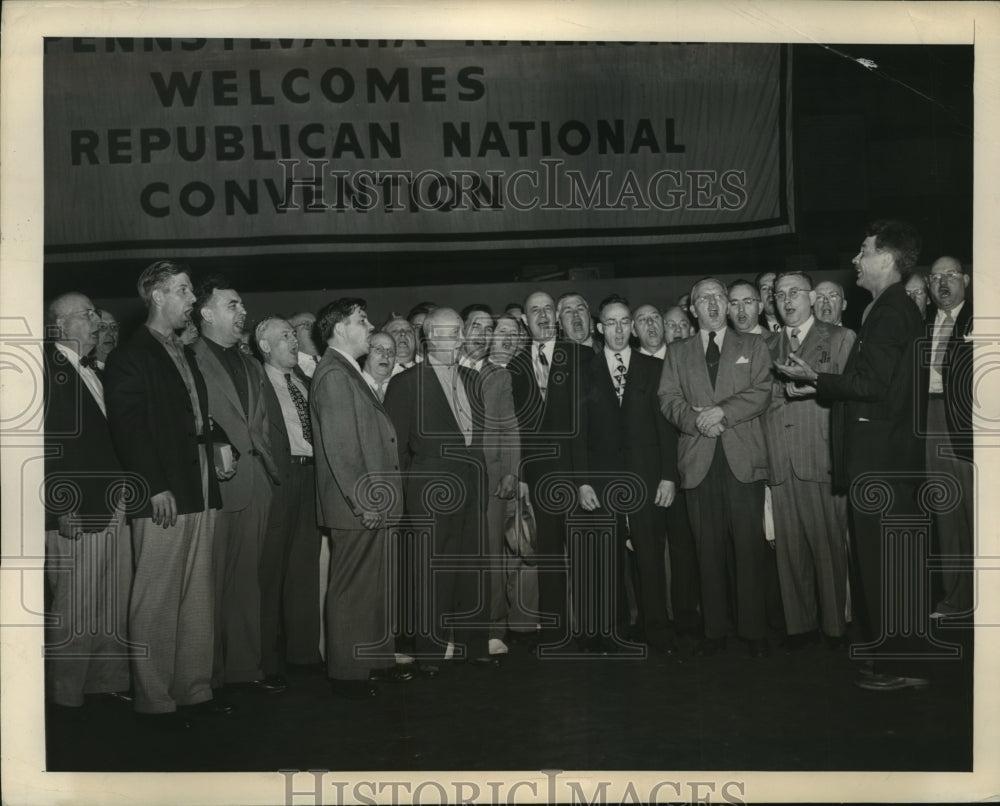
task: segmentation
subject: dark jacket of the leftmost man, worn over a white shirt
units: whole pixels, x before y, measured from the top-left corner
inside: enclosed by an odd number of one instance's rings
[[[45,528],[75,512],[87,532],[113,519],[125,474],[111,444],[108,420],[79,372],[55,344],[42,350],[45,367]],[[67,493],[67,488],[71,491]]]

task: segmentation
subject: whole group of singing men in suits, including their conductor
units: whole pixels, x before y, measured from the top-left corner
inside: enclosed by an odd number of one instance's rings
[[[972,306],[945,257],[925,316],[918,253],[908,224],[871,226],[857,334],[843,289],[798,271],[705,278],[663,313],[612,295],[596,334],[582,296],[544,291],[378,332],[343,297],[248,331],[228,282],[167,260],[121,344],[85,295],[51,300],[50,703],[120,696],[175,728],[229,713],[231,687],[284,691],[321,650],[333,692],[365,699],[512,640],[644,657],[682,631],[763,657],[777,617],[789,648],[838,648],[852,610],[877,650],[858,685],[926,686],[890,584],[920,569],[883,516],[946,475],[939,550],[973,554]],[[971,611],[970,567],[935,617]]]

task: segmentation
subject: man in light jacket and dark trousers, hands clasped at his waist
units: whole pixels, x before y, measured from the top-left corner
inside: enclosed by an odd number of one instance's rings
[[[730,571],[736,580],[736,632],[752,655],[766,638],[764,517],[767,450],[761,415],[771,400],[771,360],[764,340],[726,327],[729,297],[714,278],[691,289],[696,338],[667,347],[660,406],[680,431],[678,465],[698,551],[705,642],[725,647]],[[720,346],[721,344],[721,346]],[[732,557],[731,569],[728,557]]]

